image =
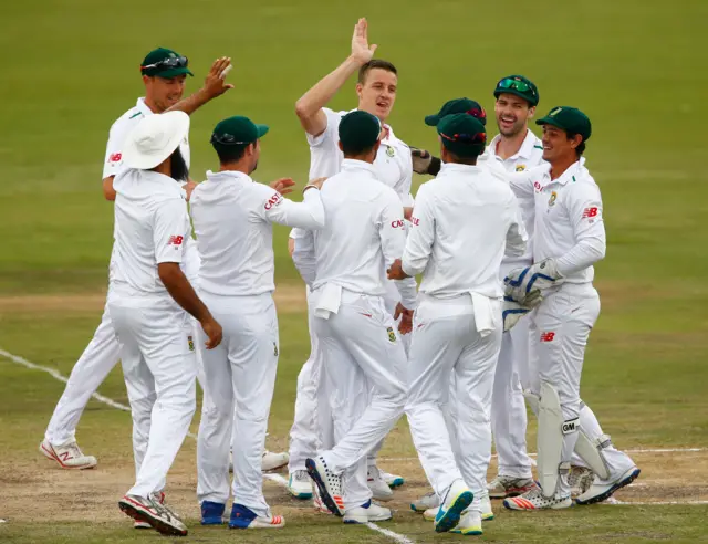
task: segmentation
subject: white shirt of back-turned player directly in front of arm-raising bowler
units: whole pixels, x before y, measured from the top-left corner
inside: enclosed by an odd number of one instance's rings
[[[400,199],[377,179],[374,166],[343,159],[341,172],[322,187],[322,203],[325,226],[314,232],[313,240],[295,239],[295,265],[301,273],[312,271],[314,291],[335,285],[384,296],[385,270],[400,258],[406,240]],[[403,305],[414,307],[415,281],[396,285]]]

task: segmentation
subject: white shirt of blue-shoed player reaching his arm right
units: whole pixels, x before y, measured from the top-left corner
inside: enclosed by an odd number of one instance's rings
[[[303,202],[293,202],[239,171],[208,171],[190,203],[201,258],[199,289],[216,295],[257,295],[275,289],[272,223],[324,226],[317,189],[308,189]]]

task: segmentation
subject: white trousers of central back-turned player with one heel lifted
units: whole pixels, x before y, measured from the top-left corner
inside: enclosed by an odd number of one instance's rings
[[[317,293],[314,293],[316,296]],[[406,355],[382,297],[342,291],[329,318],[315,317],[324,360],[335,446],[321,454],[335,473],[344,473],[344,506],[356,508],[372,493],[366,456],[403,415],[406,391],[395,368]]]

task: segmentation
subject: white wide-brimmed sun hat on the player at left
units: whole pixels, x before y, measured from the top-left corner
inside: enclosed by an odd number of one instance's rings
[[[123,160],[128,168],[149,170],[169,157],[189,133],[189,115],[148,115],[125,138]]]

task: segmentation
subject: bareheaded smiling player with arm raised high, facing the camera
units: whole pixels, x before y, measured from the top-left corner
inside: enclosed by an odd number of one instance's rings
[[[332,73],[322,79],[309,90],[296,103],[295,111],[305,129],[310,144],[310,179],[330,177],[337,174],[342,167],[343,154],[337,147],[337,128],[340,121],[347,112],[334,112],[326,104],[347,82],[350,76],[358,72],[356,93],[358,96],[357,109],[375,115],[383,125],[383,138],[381,149],[374,161],[376,177],[398,195],[402,200],[404,213],[410,213],[410,182],[413,178],[413,164],[410,149],[398,139],[385,122],[391,115],[396,101],[398,77],[396,67],[386,61],[372,60],[376,45],[368,45],[368,27],[365,19],[360,19],[354,27],[351,55]],[[295,230],[293,237],[300,236]],[[413,281],[415,282],[415,280]],[[413,283],[410,283],[413,285]],[[400,301],[398,291],[392,282],[386,282],[386,307],[392,315]],[[404,315],[402,320],[409,326],[410,316]],[[311,327],[310,334],[313,333]],[[407,335],[406,335],[407,336]],[[404,343],[407,338],[404,336]],[[313,347],[317,347],[316,338],[313,338]],[[291,430],[290,448],[290,482],[289,490],[294,496],[308,498],[310,495],[310,482],[304,471],[304,460],[312,457],[317,444],[315,420],[326,420],[323,410],[316,412],[312,409],[316,406],[314,395],[319,391],[319,383],[322,376],[317,365],[316,351],[303,365],[298,378],[298,397],[308,400],[298,400],[295,407],[295,420]],[[319,379],[319,383],[317,383]],[[330,444],[331,446],[331,444]],[[377,448],[368,459],[368,484],[374,496],[381,501],[393,498],[389,488],[404,483],[399,475],[388,474],[376,467],[375,454]]]

